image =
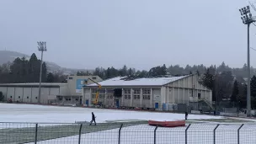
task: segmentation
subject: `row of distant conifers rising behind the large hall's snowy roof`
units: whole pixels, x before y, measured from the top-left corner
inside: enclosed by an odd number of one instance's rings
[[[231,68],[222,62],[220,66],[216,67],[216,65],[211,65],[211,67],[205,67],[203,64],[194,65],[186,67],[179,67],[179,65],[171,65],[167,67],[165,64],[163,66],[152,67],[149,71],[146,70],[136,70],[133,67],[127,67],[124,65],[122,68],[115,67],[96,67],[95,70],[90,72],[77,72],[78,76],[88,76],[88,75],[98,75],[103,79],[109,79],[112,77],[118,76],[136,76],[136,77],[156,77],[161,75],[172,75],[172,76],[183,76],[190,74],[192,72],[197,72],[199,75],[202,75],[206,72],[207,69],[210,69],[211,72],[232,72],[232,75],[235,75],[237,79],[243,80],[243,77],[247,77],[247,65],[244,64],[241,68]],[[214,73],[213,73],[214,74]],[[256,75],[256,71],[253,67],[251,67],[251,77]]]

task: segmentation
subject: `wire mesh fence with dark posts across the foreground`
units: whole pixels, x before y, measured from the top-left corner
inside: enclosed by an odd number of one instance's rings
[[[0,144],[255,144],[253,124],[0,123]]]

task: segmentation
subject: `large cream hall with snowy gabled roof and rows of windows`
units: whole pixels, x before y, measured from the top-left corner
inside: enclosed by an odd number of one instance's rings
[[[106,107],[169,109],[169,105],[173,107],[175,104],[184,104],[192,109],[200,109],[200,101],[209,107],[212,104],[211,89],[201,85],[198,76],[192,74],[182,77],[137,79],[115,77],[99,84],[102,86],[99,102]],[[97,88],[97,84],[83,88],[83,104],[93,105]],[[122,89],[122,96],[116,98],[114,89],[118,88]]]

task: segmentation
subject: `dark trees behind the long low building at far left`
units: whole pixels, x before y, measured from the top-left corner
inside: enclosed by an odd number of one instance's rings
[[[40,81],[40,60],[33,53],[29,60],[25,57],[16,58],[0,66],[0,83],[39,83]],[[45,62],[42,64],[42,83],[65,82],[66,77],[60,73],[47,72]]]

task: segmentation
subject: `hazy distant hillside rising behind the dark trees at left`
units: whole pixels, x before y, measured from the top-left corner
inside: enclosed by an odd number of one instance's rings
[[[25,57],[27,60],[29,60],[30,56],[16,52],[16,51],[0,51],[0,65],[3,65],[4,63],[13,62],[17,57],[22,58]],[[37,57],[40,59],[40,57]],[[60,67],[54,62],[51,61],[45,61],[46,66],[48,68],[49,72],[62,72],[63,74],[70,75],[75,74],[77,71],[87,71],[85,69],[72,69],[72,68],[65,68]],[[88,70],[88,72],[93,72],[93,70]]]

